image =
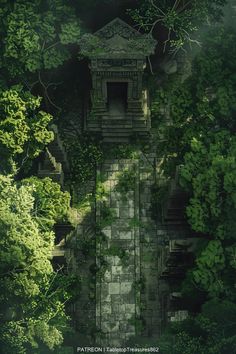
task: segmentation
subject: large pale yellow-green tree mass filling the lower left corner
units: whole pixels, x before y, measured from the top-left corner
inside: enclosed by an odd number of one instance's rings
[[[51,265],[54,233],[42,227],[50,204],[42,185],[50,186],[51,194],[59,198],[49,216],[58,218],[59,200],[64,204],[60,210],[65,210],[68,195],[58,188],[53,194],[56,183],[35,179],[31,185],[16,185],[11,177],[0,175],[0,348],[4,354],[38,353],[41,345],[53,349],[62,343],[67,327],[65,302],[70,294]]]

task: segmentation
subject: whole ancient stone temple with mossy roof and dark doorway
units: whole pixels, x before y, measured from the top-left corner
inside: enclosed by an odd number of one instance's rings
[[[86,130],[101,132],[105,141],[125,141],[132,133],[150,129],[148,93],[143,86],[146,57],[156,41],[119,18],[93,35],[82,37],[80,46],[90,59],[91,104]]]

